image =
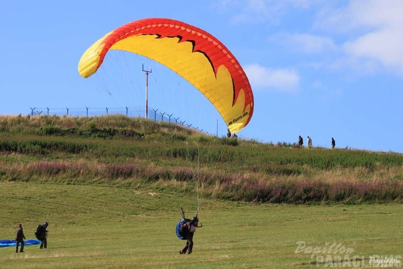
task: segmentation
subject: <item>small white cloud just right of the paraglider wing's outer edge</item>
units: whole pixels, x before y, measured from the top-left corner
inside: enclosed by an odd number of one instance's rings
[[[272,69],[259,64],[245,65],[253,89],[275,89],[293,93],[299,90],[300,75],[293,69]]]

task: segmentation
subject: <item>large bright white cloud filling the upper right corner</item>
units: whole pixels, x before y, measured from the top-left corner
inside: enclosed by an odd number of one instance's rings
[[[402,14],[400,0],[352,0],[344,8],[320,12],[315,25],[348,37],[341,45],[345,57],[350,58],[346,63],[362,61],[365,71],[368,66],[378,66],[373,69],[386,68],[403,75]]]

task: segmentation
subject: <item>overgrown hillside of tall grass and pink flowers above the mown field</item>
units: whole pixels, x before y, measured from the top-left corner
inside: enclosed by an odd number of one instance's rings
[[[125,116],[0,117],[0,178],[270,203],[401,202],[403,154],[216,138]]]

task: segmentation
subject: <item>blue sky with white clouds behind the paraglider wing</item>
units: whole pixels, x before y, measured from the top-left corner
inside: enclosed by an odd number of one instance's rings
[[[108,4],[104,4],[108,3]],[[403,153],[403,1],[7,1],[0,10],[1,115],[30,107],[139,107],[225,136],[210,102],[174,72],[125,52],[108,53],[94,77],[82,53],[133,20],[165,17],[204,29],[248,75],[254,114],[238,133],[262,142]],[[99,73],[99,74],[98,74]]]

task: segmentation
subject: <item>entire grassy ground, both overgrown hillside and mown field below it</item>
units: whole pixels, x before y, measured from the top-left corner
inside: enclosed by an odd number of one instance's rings
[[[0,266],[401,262],[402,163],[397,153],[216,138],[124,116],[0,116],[0,239],[14,239],[18,223],[26,238],[50,224],[47,250],[0,248]],[[178,253],[181,207],[204,225],[191,255]],[[333,244],[342,248],[313,253]]]

